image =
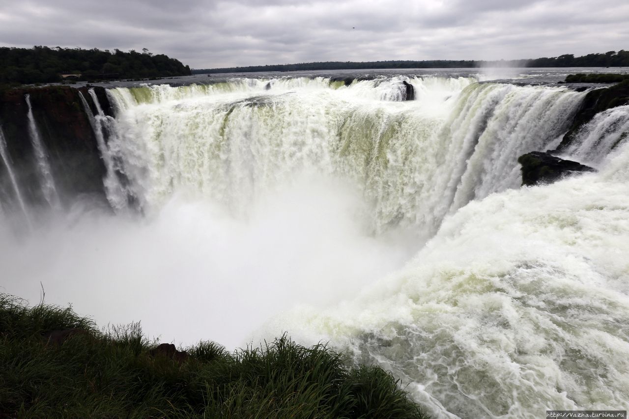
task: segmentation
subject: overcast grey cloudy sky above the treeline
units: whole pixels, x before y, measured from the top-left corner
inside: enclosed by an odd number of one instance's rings
[[[629,50],[626,0],[0,0],[0,45],[165,53],[192,68]]]

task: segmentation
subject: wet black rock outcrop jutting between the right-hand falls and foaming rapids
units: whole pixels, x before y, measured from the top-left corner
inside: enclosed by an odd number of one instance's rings
[[[522,185],[548,184],[566,176],[581,172],[596,172],[596,169],[572,160],[564,160],[548,152],[530,152],[521,155]]]

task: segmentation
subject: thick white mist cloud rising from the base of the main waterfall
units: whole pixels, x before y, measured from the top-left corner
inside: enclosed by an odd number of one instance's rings
[[[272,315],[325,306],[403,265],[416,249],[370,237],[348,187],[307,179],[267,196],[247,220],[175,195],[147,219],[60,216],[18,243],[0,236],[3,292],[72,303],[99,326],[142,321],[162,342],[234,349]]]

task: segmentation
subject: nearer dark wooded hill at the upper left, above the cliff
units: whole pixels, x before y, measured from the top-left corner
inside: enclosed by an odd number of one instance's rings
[[[0,47],[0,84],[34,84],[62,81],[62,74],[80,80],[137,79],[189,75],[190,67],[164,54],[92,48]]]

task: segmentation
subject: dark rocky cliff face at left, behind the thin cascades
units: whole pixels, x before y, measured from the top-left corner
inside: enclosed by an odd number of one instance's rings
[[[103,87],[95,87],[99,102],[111,113]],[[6,142],[6,154],[23,199],[29,204],[45,205],[38,159],[29,130],[28,103],[30,95],[33,119],[47,155],[52,178],[60,201],[81,194],[104,198],[105,167],[100,157],[89,116],[79,92],[95,112],[87,94],[88,87],[66,86],[9,89],[0,92],[0,125]],[[8,167],[0,162],[0,199],[3,203],[16,199],[15,187],[8,176]]]

